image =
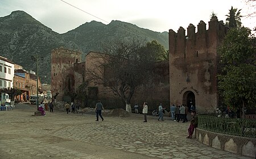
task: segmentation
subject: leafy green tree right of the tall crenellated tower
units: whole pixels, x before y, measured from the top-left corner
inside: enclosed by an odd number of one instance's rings
[[[218,87],[224,103],[230,107],[255,107],[256,63],[254,39],[250,30],[232,29],[218,50],[222,65]]]

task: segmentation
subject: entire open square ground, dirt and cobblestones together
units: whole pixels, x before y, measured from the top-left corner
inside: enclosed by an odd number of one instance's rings
[[[35,107],[35,106],[34,106]],[[19,104],[0,111],[0,158],[249,158],[186,139],[188,123],[46,112]],[[1,156],[2,155],[2,156]]]

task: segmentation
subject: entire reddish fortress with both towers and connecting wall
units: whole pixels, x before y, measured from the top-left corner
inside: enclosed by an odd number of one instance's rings
[[[196,27],[189,24],[187,35],[182,27],[177,33],[169,31],[170,61],[155,64],[152,82],[135,91],[132,106],[146,101],[150,110],[154,110],[159,103],[168,108],[170,104],[190,106],[192,101],[200,113],[213,111],[217,107],[217,47],[224,39],[227,28],[215,16],[210,20],[208,30],[203,21],[197,25],[197,32],[195,30]],[[93,67],[94,60],[99,60],[90,58],[96,54],[88,53],[85,62],[81,62],[81,52],[64,48],[52,51],[52,95],[59,92],[57,101],[63,101],[65,93],[76,91],[83,81],[88,80],[85,70]],[[101,99],[106,108],[125,107],[108,87],[95,83],[89,83],[89,87],[93,88],[88,90],[92,101]],[[94,106],[93,102],[87,104]]]

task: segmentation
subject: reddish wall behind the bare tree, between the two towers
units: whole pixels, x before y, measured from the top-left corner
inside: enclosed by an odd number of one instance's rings
[[[98,61],[104,62],[102,57],[106,59],[104,53],[89,52],[85,56],[85,70],[91,69],[94,72],[101,72],[98,70]],[[169,108],[169,63],[168,61],[156,62],[154,69],[151,73],[151,80],[144,85],[139,86],[135,89],[133,98],[131,99],[131,107],[133,108],[135,103],[139,104],[139,110],[142,110],[143,102],[148,102],[149,111],[158,108],[160,103],[163,103],[164,107]],[[88,76],[85,76],[88,80]],[[102,103],[107,108],[125,108],[125,103],[113,93],[108,87],[98,84],[99,82],[93,82],[90,80],[88,86],[88,97],[89,99],[101,99]],[[97,92],[90,90],[90,87],[97,87]],[[94,100],[95,102],[96,100]],[[94,106],[95,103],[89,102],[88,106]]]

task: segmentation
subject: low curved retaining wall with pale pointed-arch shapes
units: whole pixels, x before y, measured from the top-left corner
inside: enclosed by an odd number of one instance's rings
[[[196,139],[210,147],[256,158],[256,139],[209,132],[196,128]]]

